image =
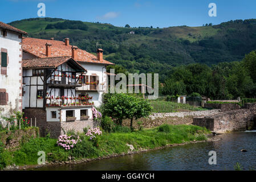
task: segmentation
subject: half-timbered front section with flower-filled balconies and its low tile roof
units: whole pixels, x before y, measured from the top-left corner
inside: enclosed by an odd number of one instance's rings
[[[65,130],[93,126],[92,97],[76,93],[85,73],[72,57],[23,60],[23,111],[26,117],[36,118],[42,135],[48,130],[58,137]]]

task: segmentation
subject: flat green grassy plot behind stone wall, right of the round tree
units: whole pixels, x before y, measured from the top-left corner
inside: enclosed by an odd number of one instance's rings
[[[198,106],[191,106],[189,104],[180,104],[176,102],[169,101],[150,101],[151,106],[153,107],[153,113],[174,113],[177,112],[178,109],[198,111],[198,110],[207,110]]]

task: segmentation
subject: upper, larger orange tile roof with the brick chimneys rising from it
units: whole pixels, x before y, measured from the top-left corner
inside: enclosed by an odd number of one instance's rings
[[[23,51],[31,53],[36,57],[47,57],[46,56],[46,43],[51,44],[51,57],[60,56],[71,56],[72,55],[72,45],[66,46],[64,42],[58,40],[46,40],[46,39],[35,39],[35,38],[23,38],[22,48]],[[109,61],[97,60],[97,57],[88,53],[82,49],[77,49],[78,59],[76,61],[86,62],[86,63],[97,63],[97,64],[113,64]]]

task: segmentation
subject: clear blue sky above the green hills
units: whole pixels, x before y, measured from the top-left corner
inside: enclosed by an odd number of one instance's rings
[[[46,17],[111,23],[115,26],[170,27],[219,24],[256,18],[256,1],[231,0],[1,0],[0,21],[36,18],[38,3],[46,5]],[[210,17],[209,3],[216,3],[217,17]]]

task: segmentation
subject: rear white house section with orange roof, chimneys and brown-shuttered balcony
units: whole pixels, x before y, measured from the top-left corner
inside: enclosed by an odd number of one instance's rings
[[[76,88],[80,96],[89,94],[95,106],[102,104],[103,92],[107,88],[107,65],[113,63],[103,59],[103,49],[97,49],[97,56],[76,46],[70,45],[66,38],[64,42],[35,38],[23,38],[23,59],[35,57],[72,56],[82,67],[87,69],[80,79],[82,86]]]

